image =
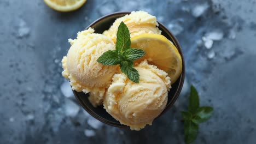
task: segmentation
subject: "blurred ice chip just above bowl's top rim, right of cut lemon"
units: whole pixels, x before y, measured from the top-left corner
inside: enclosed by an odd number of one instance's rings
[[[118,10],[118,5],[114,1],[103,2],[100,7],[98,7],[98,13],[101,15],[106,15],[113,13]]]

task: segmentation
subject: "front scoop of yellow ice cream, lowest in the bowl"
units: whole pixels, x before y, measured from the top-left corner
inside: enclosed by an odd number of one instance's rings
[[[165,109],[171,82],[165,71],[147,61],[135,69],[140,75],[139,83],[132,82],[123,73],[114,75],[104,98],[104,108],[121,124],[140,130],[151,125]]]

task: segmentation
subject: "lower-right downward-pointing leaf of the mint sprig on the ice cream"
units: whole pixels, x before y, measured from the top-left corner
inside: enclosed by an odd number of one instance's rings
[[[133,82],[139,82],[139,73],[138,71],[133,68],[132,61],[123,61],[120,64],[121,71]]]

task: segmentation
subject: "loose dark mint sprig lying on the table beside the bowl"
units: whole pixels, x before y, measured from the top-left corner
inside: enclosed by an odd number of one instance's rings
[[[199,95],[194,86],[190,87],[188,111],[181,111],[184,119],[185,143],[191,143],[196,139],[199,131],[199,124],[211,118],[213,107],[201,106]]]

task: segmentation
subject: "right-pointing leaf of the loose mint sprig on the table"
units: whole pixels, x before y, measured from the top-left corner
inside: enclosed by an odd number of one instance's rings
[[[195,116],[193,116],[192,121],[196,124],[206,122],[209,118],[211,118],[213,113],[213,108],[210,106],[202,106],[200,107]]]

